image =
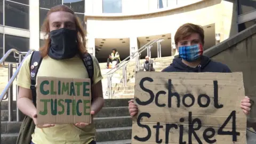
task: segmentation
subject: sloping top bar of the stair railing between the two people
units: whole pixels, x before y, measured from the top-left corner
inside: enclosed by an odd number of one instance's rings
[[[130,60],[127,60],[127,59],[129,59],[129,58],[131,58],[131,57],[133,57],[133,58],[134,58],[134,57],[137,57],[137,55],[139,55],[141,52],[143,52],[144,50],[146,50],[146,49],[148,48],[148,46],[150,46],[150,45],[156,43],[156,42],[159,41],[160,39],[162,39],[162,38],[158,38],[158,39],[156,39],[156,40],[152,40],[152,41],[148,42],[148,43],[145,44],[144,46],[140,47],[139,50],[135,51],[134,54],[131,54],[129,57],[127,57],[126,59],[124,59],[122,62],[118,63],[118,65],[116,65],[115,67],[121,65],[121,63],[124,63],[124,64],[123,64],[123,66],[124,66],[126,63],[128,63],[129,61],[131,61],[131,59],[130,59]],[[148,46],[147,46],[147,45],[148,45]],[[139,52],[139,51],[140,51],[140,52]],[[112,68],[112,69],[110,69],[110,70],[109,70],[106,74],[104,74],[104,75],[111,75],[111,74],[115,73],[115,71],[117,71],[117,70],[120,69],[120,68],[121,68],[121,67]],[[114,69],[114,71],[112,71],[112,72],[110,73],[110,71],[113,70],[113,69]]]

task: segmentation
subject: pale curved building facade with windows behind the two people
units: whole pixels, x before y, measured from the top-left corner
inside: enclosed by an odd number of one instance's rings
[[[65,4],[87,30],[87,48],[106,62],[116,48],[121,59],[161,38],[162,57],[175,52],[174,34],[183,23],[203,26],[205,49],[255,23],[252,0],[3,0],[0,2],[0,57],[10,49],[38,50],[42,23],[52,6]],[[147,53],[142,53],[142,58]],[[157,44],[151,47],[157,57]],[[7,61],[17,61],[12,55]]]

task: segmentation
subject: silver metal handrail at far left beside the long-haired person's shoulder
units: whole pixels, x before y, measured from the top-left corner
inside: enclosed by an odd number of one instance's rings
[[[17,54],[25,54],[25,53],[23,53],[23,52],[19,52],[19,51],[15,50],[15,49],[11,49],[11,50],[12,50],[11,52],[15,52],[15,53],[17,53]],[[9,51],[10,51],[10,50],[9,50]],[[6,54],[3,56],[3,58],[0,60],[0,63],[3,63],[4,60],[9,56],[9,55],[7,55],[7,54],[10,54],[10,53],[11,53],[11,52],[9,52],[9,51],[7,51]],[[29,54],[30,54],[31,52],[33,52],[33,51],[35,51],[35,50],[29,50],[29,51],[27,52],[27,54],[25,55],[25,57],[27,57],[27,55],[29,55]],[[7,55],[7,56],[6,56],[6,55]],[[4,58],[5,58],[5,59],[4,59]],[[3,60],[3,59],[4,59],[4,60]],[[17,75],[18,75],[18,73],[19,73],[19,71],[20,71],[20,68],[21,68],[21,65],[22,65],[22,62],[23,62],[23,61],[24,61],[24,59],[20,62],[19,67],[16,69],[15,73],[12,75],[10,81],[7,83],[7,85],[5,86],[3,92],[1,93],[1,95],[0,95],[0,103],[2,102],[2,100],[3,100],[3,98],[4,98],[4,95],[7,93],[7,91],[8,91],[9,88],[10,88],[10,86],[12,85],[14,79],[17,77]]]

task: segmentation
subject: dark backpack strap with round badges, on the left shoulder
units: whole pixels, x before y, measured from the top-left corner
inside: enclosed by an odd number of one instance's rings
[[[34,51],[31,55],[29,68],[30,68],[30,90],[32,92],[33,103],[36,106],[36,75],[40,64],[42,62],[41,53],[39,51]]]

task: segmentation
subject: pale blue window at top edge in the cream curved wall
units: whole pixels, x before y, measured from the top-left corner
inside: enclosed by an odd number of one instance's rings
[[[122,0],[102,0],[103,13],[122,13]]]

